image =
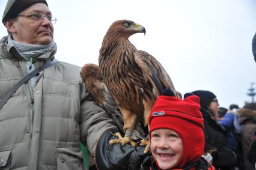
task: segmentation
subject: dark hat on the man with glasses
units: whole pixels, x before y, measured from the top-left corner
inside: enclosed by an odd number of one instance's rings
[[[21,11],[36,3],[44,3],[48,6],[46,0],[8,0],[2,15],[2,23],[17,17]]]

